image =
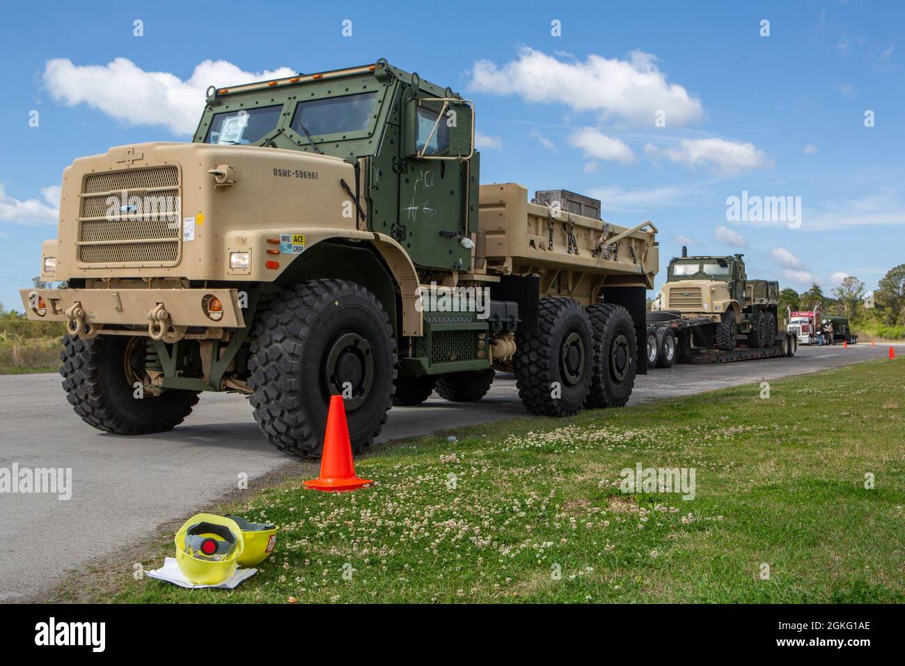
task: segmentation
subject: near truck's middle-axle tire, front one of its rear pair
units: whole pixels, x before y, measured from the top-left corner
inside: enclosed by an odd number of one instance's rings
[[[538,304],[538,327],[516,334],[514,365],[521,403],[532,414],[572,416],[591,390],[595,355],[591,323],[570,298]]]

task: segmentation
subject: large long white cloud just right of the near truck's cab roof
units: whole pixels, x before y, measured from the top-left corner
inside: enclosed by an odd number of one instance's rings
[[[510,63],[474,63],[470,87],[644,124],[653,123],[657,111],[666,112],[670,126],[699,121],[704,115],[700,100],[681,85],[666,82],[656,62],[655,55],[642,51],[629,53],[628,60],[592,53],[584,63],[563,62],[525,46]]]

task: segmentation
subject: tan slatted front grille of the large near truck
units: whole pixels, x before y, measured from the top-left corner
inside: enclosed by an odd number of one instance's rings
[[[86,176],[79,210],[81,264],[178,264],[182,247],[179,186],[176,166]],[[137,209],[120,210],[133,203],[138,203]]]

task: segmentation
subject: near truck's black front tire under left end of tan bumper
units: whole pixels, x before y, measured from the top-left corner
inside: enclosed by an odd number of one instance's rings
[[[62,388],[81,420],[117,435],[173,430],[198,401],[196,391],[142,391],[134,383],[145,374],[145,339],[99,335],[89,340],[66,335],[60,353]]]

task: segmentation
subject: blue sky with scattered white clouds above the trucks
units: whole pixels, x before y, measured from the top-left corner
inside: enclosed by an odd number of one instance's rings
[[[5,6],[7,307],[21,309],[21,281],[56,235],[56,188],[72,159],[188,140],[197,87],[242,82],[211,78],[378,57],[475,101],[482,182],[595,196],[616,224],[651,219],[662,267],[683,243],[744,252],[749,275],[802,291],[842,275],[871,289],[905,262],[901,3],[124,5]],[[727,198],[743,191],[800,197],[800,226],[729,220]]]

